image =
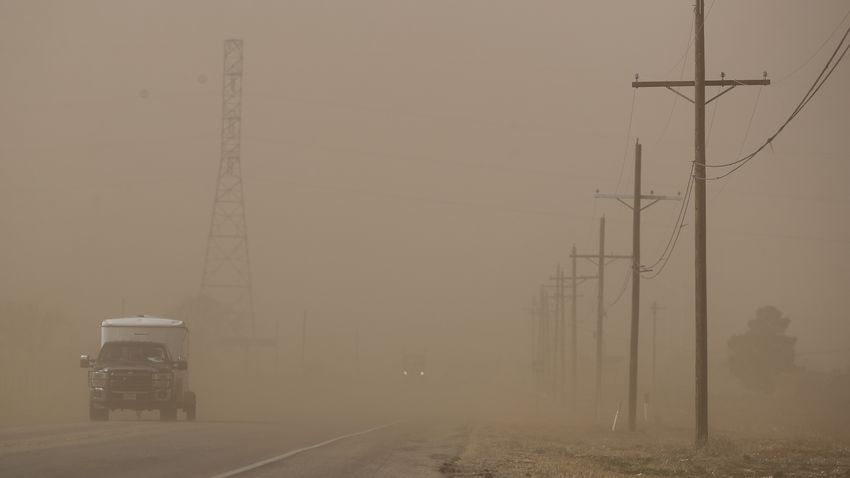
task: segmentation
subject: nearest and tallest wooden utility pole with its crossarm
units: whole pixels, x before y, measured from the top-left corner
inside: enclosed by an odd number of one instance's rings
[[[694,11],[694,80],[693,81],[635,81],[634,88],[664,87],[694,104],[694,273],[696,320],[696,446],[702,448],[708,441],[708,274],[706,258],[706,194],[705,194],[705,105],[728,93],[736,86],[770,84],[767,73],[761,80],[705,79],[705,0],[696,0]],[[694,87],[694,98],[674,90],[674,87]],[[705,99],[706,86],[720,86],[722,90],[711,99]]]

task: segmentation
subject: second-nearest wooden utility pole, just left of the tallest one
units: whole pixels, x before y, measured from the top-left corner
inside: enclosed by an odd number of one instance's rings
[[[632,320],[629,340],[629,431],[637,426],[637,370],[638,370],[638,332],[640,329],[640,213],[661,200],[679,200],[678,196],[660,196],[641,194],[641,151],[639,141],[635,142],[635,185],[634,194],[597,194],[600,198],[613,198],[632,209]],[[624,201],[632,199],[632,204]],[[642,206],[642,199],[652,202]]]

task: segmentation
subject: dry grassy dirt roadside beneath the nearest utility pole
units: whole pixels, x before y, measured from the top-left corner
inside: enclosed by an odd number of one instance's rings
[[[443,464],[452,477],[848,477],[850,442],[818,437],[730,436],[712,431],[700,451],[690,430],[487,424]]]

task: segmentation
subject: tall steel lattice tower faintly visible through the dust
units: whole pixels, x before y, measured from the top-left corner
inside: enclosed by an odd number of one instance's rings
[[[242,186],[242,40],[224,41],[221,160],[201,278],[201,293],[229,308],[235,324],[254,332],[248,229]]]

